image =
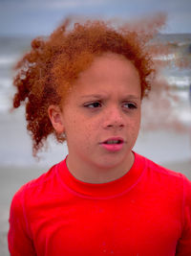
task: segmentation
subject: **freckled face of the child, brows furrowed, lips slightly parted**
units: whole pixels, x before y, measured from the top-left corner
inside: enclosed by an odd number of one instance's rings
[[[100,170],[130,158],[138,137],[140,98],[138,71],[129,60],[114,54],[96,58],[80,74],[57,119],[72,165],[87,163]]]

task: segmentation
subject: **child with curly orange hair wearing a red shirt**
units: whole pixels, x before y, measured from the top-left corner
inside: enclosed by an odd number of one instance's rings
[[[191,255],[191,182],[132,151],[153,74],[143,35],[67,26],[18,63],[33,153],[53,133],[69,154],[12,199],[11,255]]]

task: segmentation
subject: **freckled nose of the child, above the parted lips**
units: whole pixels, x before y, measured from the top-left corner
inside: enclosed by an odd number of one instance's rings
[[[123,128],[125,126],[124,116],[119,107],[112,107],[104,115],[104,128]]]

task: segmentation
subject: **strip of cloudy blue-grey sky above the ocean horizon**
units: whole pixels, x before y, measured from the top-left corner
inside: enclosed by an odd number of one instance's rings
[[[167,14],[162,33],[191,33],[191,0],[0,0],[0,35],[49,35],[69,14],[132,20]]]

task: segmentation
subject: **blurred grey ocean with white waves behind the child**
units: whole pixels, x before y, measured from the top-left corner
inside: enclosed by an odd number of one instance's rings
[[[21,107],[10,111],[14,93],[12,67],[30,49],[31,40],[29,37],[0,37],[0,166],[52,165],[63,159],[68,152],[66,145],[57,145],[50,138],[50,147],[40,152],[40,160],[33,159],[24,109]],[[171,55],[159,57],[163,61],[182,57],[191,61],[191,35],[160,35],[160,40],[168,41],[174,47]],[[135,147],[136,151],[159,163],[191,157],[190,68],[178,69],[172,65],[163,70],[163,76],[170,84],[171,95],[177,101],[169,99],[171,110],[162,108],[158,117],[154,111],[150,117],[148,113],[146,117],[143,115],[142,129]],[[153,108],[149,101],[154,103],[152,99],[147,100],[146,107]],[[163,105],[163,102],[159,105]]]

